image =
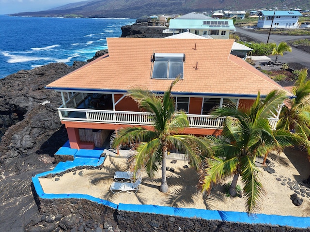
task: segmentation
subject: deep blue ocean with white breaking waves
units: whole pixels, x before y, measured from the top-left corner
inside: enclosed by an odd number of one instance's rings
[[[0,15],[0,78],[48,63],[86,61],[135,21]]]

